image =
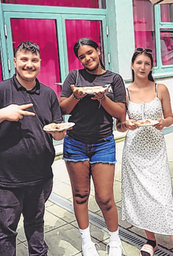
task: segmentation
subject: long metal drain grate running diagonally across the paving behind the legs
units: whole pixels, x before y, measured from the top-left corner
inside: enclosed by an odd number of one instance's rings
[[[59,194],[52,192],[49,197],[49,200],[51,202],[57,204],[57,206],[60,206],[61,208],[65,209],[71,213],[74,213],[73,202],[71,202],[70,200],[67,200],[66,198],[61,197]],[[99,216],[93,212],[90,212],[90,211],[89,211],[89,222],[91,224],[93,224],[94,226],[108,232],[105,220],[101,216]],[[137,247],[139,249],[146,242],[146,239],[141,238],[138,235],[134,234],[133,232],[126,230],[122,227],[119,227],[119,234],[120,234],[120,238],[122,239],[122,241],[130,243],[131,245],[134,245],[135,247]],[[173,253],[158,246],[154,255],[156,255],[156,256],[173,256]]]

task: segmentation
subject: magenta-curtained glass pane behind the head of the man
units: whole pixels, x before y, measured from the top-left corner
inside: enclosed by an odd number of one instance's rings
[[[14,50],[23,41],[40,46],[41,70],[38,79],[60,95],[60,67],[56,23],[52,19],[11,19]]]

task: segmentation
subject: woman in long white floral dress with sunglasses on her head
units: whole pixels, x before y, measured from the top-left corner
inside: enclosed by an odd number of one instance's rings
[[[119,131],[128,130],[122,157],[122,220],[144,229],[147,243],[142,256],[157,249],[155,233],[173,238],[173,198],[163,128],[173,123],[170,95],[152,76],[152,50],[136,48],[132,57],[132,84],[127,88],[127,113],[117,120]],[[153,126],[137,126],[152,119]]]

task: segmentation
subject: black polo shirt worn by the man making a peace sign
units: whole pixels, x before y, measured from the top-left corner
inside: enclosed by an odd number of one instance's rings
[[[36,116],[0,124],[0,186],[36,185],[52,177],[55,151],[52,136],[43,131],[50,122],[62,122],[54,91],[39,83],[27,91],[14,75],[0,83],[0,108],[33,103]]]

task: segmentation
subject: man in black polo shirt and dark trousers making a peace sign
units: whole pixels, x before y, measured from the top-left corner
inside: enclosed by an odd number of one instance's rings
[[[52,189],[55,151],[52,137],[63,132],[43,131],[62,122],[52,89],[39,83],[39,46],[22,42],[14,58],[16,75],[0,83],[0,255],[16,255],[16,229],[21,213],[30,256],[47,255],[44,241],[44,203]]]

